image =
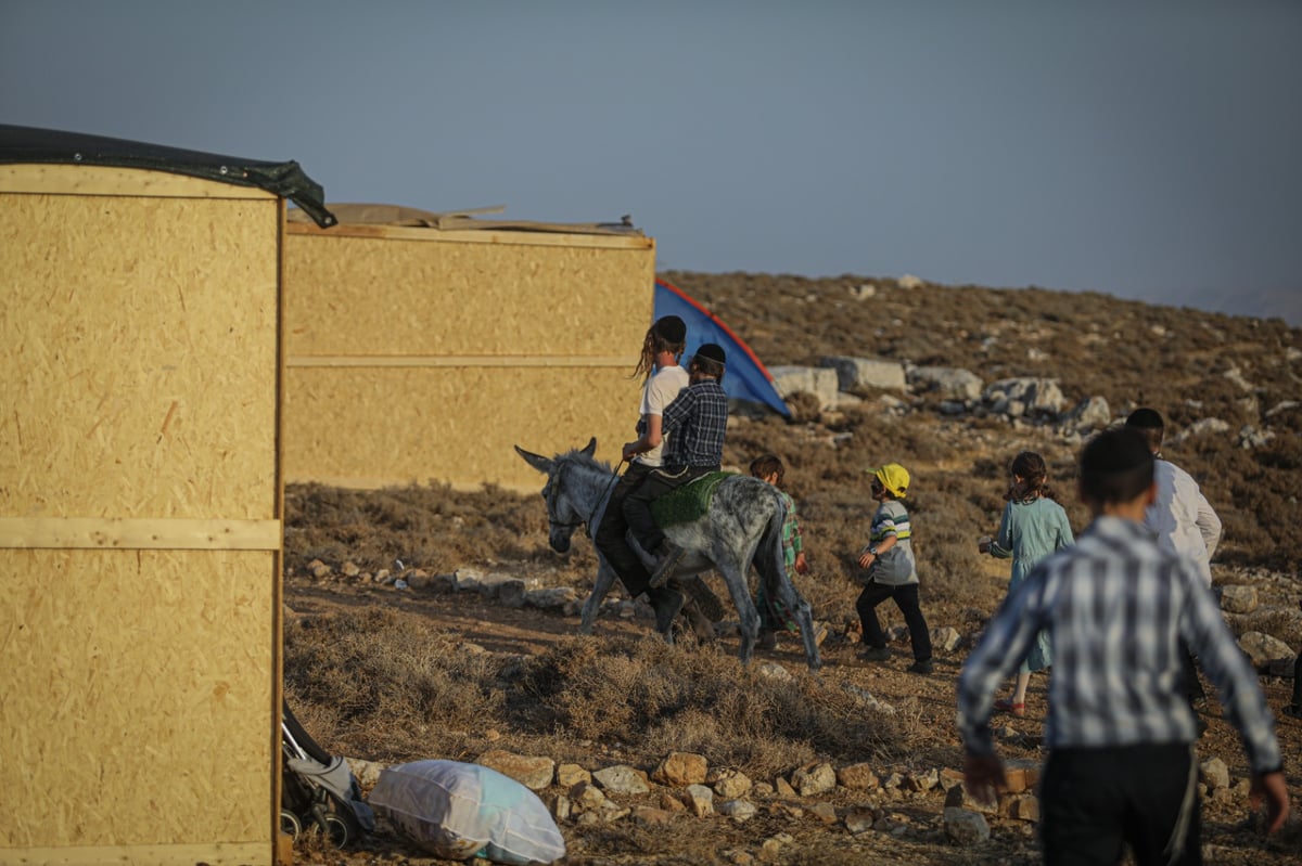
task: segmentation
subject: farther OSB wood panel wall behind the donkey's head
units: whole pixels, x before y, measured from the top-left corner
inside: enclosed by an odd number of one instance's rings
[[[634,438],[644,237],[290,225],[286,480],[535,490],[544,454]]]

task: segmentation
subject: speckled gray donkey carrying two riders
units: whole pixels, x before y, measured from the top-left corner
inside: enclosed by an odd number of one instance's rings
[[[565,553],[570,537],[578,527],[587,525],[589,536],[596,534],[605,512],[605,502],[611,495],[617,476],[605,463],[592,458],[596,453],[596,440],[591,440],[582,450],[566,451],[555,458],[525,451],[518,445],[516,453],[529,466],[547,476],[543,486],[543,499],[547,501],[547,520],[549,524],[548,542],[552,550]],[[805,659],[811,671],[819,670],[818,644],[814,638],[814,620],[809,602],[786,576],[783,559],[783,521],[786,508],[777,492],[767,482],[749,476],[725,479],[715,490],[707,514],[694,523],[664,527],[665,534],[686,554],[673,572],[673,580],[693,577],[715,568],[728,585],[733,605],[741,618],[742,663],[750,662],[759,636],[759,614],[746,585],[746,573],[754,562],[764,592],[790,611],[801,627],[805,641]],[[647,564],[651,558],[637,546]],[[615,583],[615,571],[598,551],[596,584],[583,605],[582,633],[592,631],[596,610]],[[672,637],[671,616],[656,623],[667,640]]]

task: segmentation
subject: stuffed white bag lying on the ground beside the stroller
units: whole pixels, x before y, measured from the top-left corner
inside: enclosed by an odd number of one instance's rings
[[[411,841],[444,859],[478,854],[525,866],[565,856],[565,839],[538,794],[478,763],[400,763],[380,772],[367,800]]]

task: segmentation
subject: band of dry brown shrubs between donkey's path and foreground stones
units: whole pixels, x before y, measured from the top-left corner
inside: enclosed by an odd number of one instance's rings
[[[880,755],[901,735],[835,684],[768,679],[708,648],[569,637],[504,661],[374,607],[288,628],[285,680],[296,706],[318,707],[303,720],[323,741],[381,761],[482,752],[492,729],[497,748],[559,759],[608,742],[644,762],[687,750],[772,778],[815,755]]]

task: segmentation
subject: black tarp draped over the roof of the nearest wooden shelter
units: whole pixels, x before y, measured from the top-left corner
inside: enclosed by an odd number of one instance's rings
[[[0,164],[7,163],[113,165],[256,186],[289,199],[323,229],[336,222],[335,215],[326,208],[326,190],[294,161],[266,163],[122,138],[0,124]]]

